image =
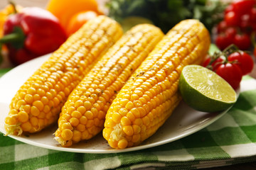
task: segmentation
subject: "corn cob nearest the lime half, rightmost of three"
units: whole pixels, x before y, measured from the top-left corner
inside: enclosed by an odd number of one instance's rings
[[[200,64],[209,45],[208,30],[197,20],[181,21],[164,36],[107,111],[103,137],[111,147],[139,145],[163,125],[181,101],[181,70]]]

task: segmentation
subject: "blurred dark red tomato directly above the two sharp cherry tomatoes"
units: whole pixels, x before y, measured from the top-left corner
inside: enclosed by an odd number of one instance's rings
[[[234,44],[238,46],[240,50],[247,50],[251,45],[250,36],[247,34],[237,34],[234,38]]]

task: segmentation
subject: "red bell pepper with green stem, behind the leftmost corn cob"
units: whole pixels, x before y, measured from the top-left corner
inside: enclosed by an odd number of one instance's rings
[[[7,18],[0,43],[6,45],[10,61],[18,65],[57,50],[67,38],[52,13],[43,8],[27,7]]]

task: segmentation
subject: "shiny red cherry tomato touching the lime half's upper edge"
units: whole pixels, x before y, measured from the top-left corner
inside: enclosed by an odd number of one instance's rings
[[[216,69],[216,73],[225,79],[233,89],[238,89],[240,81],[242,80],[242,71],[237,64],[221,64],[218,69]]]

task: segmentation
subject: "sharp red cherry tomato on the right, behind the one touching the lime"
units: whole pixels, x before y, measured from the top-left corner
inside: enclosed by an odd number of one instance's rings
[[[234,64],[238,64],[242,71],[242,75],[252,72],[254,62],[252,57],[246,52],[234,52],[228,56],[228,61],[234,62]]]

